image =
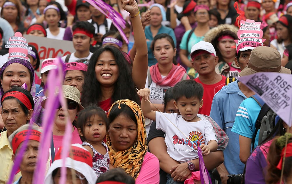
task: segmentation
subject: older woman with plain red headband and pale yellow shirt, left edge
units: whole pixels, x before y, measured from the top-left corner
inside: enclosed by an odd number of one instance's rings
[[[27,124],[34,113],[34,101],[32,95],[25,89],[13,87],[3,94],[1,98],[2,119],[7,131],[0,134],[0,183],[6,183],[14,165],[11,155],[12,148],[8,141],[10,136],[20,126]],[[17,173],[16,180],[21,176]],[[15,180],[14,180],[15,181]]]

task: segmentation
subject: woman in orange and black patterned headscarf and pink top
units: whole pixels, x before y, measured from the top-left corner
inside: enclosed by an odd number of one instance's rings
[[[139,183],[159,183],[159,161],[147,152],[147,138],[142,111],[131,100],[118,100],[109,110],[110,162],[121,167]]]

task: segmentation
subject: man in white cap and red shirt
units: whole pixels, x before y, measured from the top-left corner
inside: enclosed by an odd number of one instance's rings
[[[192,66],[198,72],[199,77],[194,79],[204,88],[204,105],[199,114],[209,115],[214,95],[225,86],[226,77],[215,72],[218,56],[213,45],[206,41],[200,41],[192,46],[190,56]]]

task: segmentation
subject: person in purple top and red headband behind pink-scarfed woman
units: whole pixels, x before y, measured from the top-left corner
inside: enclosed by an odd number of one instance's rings
[[[196,6],[195,1],[193,0],[185,1],[185,4],[183,5],[183,11],[180,14],[178,14],[178,20],[180,20],[180,25],[178,25],[174,29],[177,53],[179,53],[180,51],[180,42],[182,41],[185,32],[187,30],[195,28],[197,25],[194,14],[195,6]],[[185,69],[187,69],[187,66],[185,66],[180,60],[179,54],[177,56],[178,56],[177,62],[180,63],[180,65],[182,65]]]

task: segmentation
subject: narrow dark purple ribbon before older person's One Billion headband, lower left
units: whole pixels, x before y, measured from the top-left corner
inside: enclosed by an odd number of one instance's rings
[[[34,124],[34,122],[32,121],[32,119],[30,119],[29,128],[28,128],[29,130],[32,129],[32,125],[33,124]],[[11,170],[11,173],[10,173],[9,180],[8,180],[7,184],[12,184],[13,183],[14,175],[15,175],[16,171],[18,170],[21,162],[22,162],[22,158],[23,158],[24,152],[26,150],[26,147],[27,147],[27,144],[28,144],[28,140],[29,140],[29,136],[27,136],[25,138],[25,141],[23,142],[22,146],[20,147],[19,152],[16,154],[14,165],[13,165],[13,168]]]

